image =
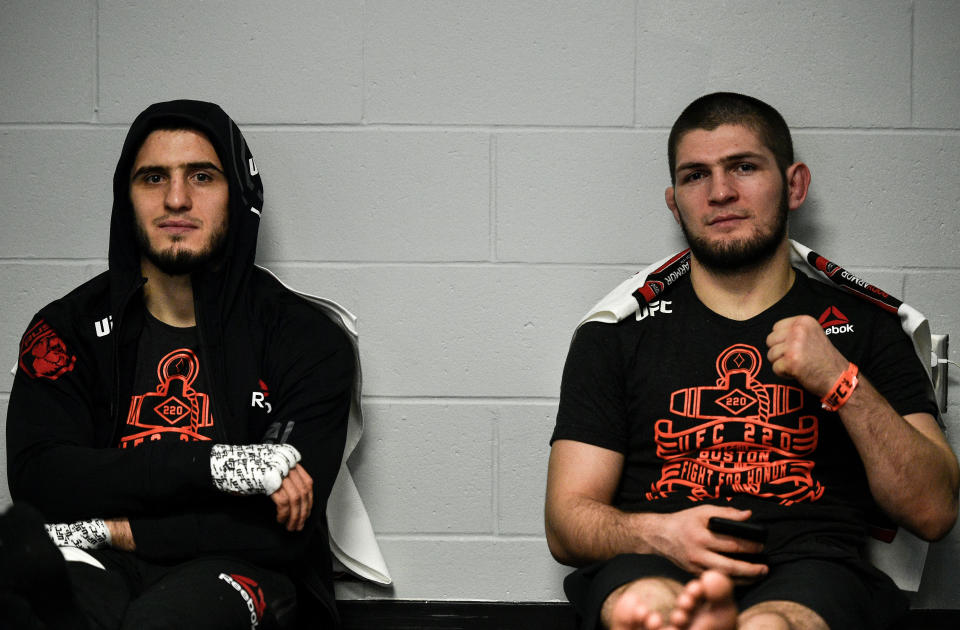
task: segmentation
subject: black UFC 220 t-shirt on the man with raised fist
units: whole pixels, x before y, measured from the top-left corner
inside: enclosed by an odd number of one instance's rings
[[[853,442],[818,397],[773,373],[767,335],[781,319],[811,315],[900,414],[936,406],[896,316],[796,277],[746,321],[710,311],[684,278],[636,317],[585,324],[567,356],[552,439],[623,453],[614,504],[624,510],[712,503],[753,510],[779,538],[862,536],[876,506]]]

